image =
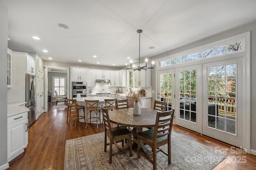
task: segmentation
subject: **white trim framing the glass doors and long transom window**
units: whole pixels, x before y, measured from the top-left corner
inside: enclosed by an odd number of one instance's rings
[[[176,53],[173,55],[169,55],[166,57],[162,57],[160,59],[156,59],[156,80],[158,80],[157,78],[157,72],[159,70],[167,70],[167,69],[171,69],[171,68],[176,68],[176,67],[180,67],[182,64],[182,66],[187,66],[187,65],[191,65],[191,64],[202,64],[204,63],[205,60],[207,60],[207,63],[212,60],[212,61],[222,61],[225,59],[232,59],[232,58],[236,58],[236,57],[240,57],[240,56],[244,56],[244,65],[245,65],[245,70],[244,70],[244,76],[245,76],[245,89],[244,89],[244,106],[245,106],[245,118],[244,118],[244,133],[245,133],[245,148],[247,149],[247,152],[253,152],[253,150],[251,150],[251,121],[250,121],[250,117],[251,117],[251,66],[250,66],[250,61],[251,61],[251,41],[250,41],[250,37],[251,37],[251,33],[250,31],[246,32],[246,33],[242,33],[239,35],[235,35],[233,37],[229,37],[226,39],[222,39],[220,41],[216,41],[213,43],[209,43],[207,45],[202,45],[200,47],[196,47],[194,49],[189,49],[186,51],[182,51],[180,53]],[[237,41],[242,41],[242,50],[241,51],[236,51],[234,53],[228,53],[225,54],[226,56],[223,58],[223,55],[218,55],[218,56],[214,56],[214,57],[209,57],[207,59],[202,59],[202,60],[194,60],[194,61],[190,61],[190,62],[186,62],[186,63],[179,63],[179,64],[173,64],[170,66],[163,66],[163,67],[159,67],[159,63],[161,61],[165,61],[168,59],[173,59],[176,57],[181,57],[184,55],[189,55],[192,53],[196,53],[199,51],[204,51],[207,50],[209,48],[213,48],[213,47],[218,47],[220,45],[225,45],[228,43],[234,43]],[[205,61],[206,62],[206,61]],[[156,89],[158,88],[157,86],[157,81],[156,81]],[[156,96],[157,97],[157,96]],[[157,98],[156,98],[157,100]]]

